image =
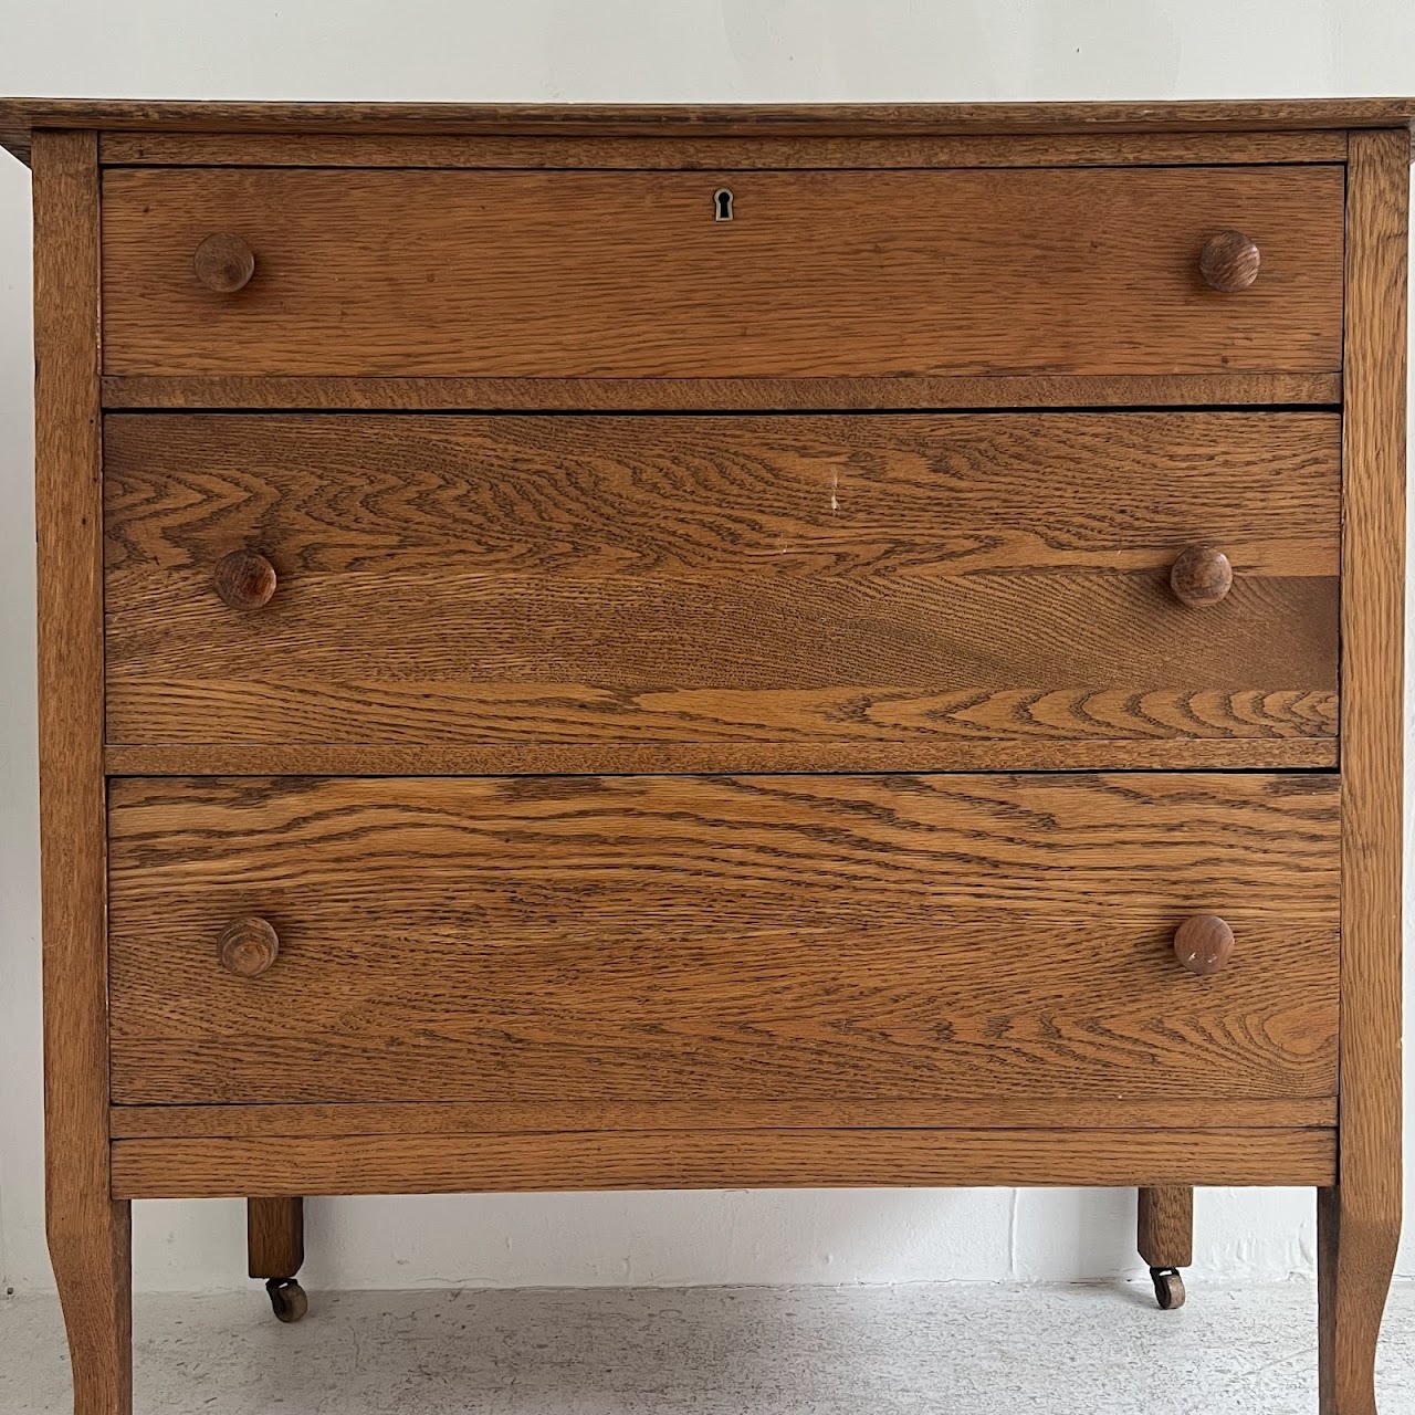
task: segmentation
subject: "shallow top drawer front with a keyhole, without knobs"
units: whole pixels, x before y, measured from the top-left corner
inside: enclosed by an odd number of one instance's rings
[[[733,219],[715,219],[715,191]],[[109,374],[1333,372],[1343,168],[110,170]],[[1261,272],[1200,273],[1238,231]],[[202,270],[195,253],[209,238]]]

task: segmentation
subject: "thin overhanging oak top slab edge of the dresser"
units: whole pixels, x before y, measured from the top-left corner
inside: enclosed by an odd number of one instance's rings
[[[1009,133],[1408,127],[1415,98],[1085,103],[273,103],[0,99],[0,144],[27,158],[40,127],[168,133],[559,137],[952,137]]]

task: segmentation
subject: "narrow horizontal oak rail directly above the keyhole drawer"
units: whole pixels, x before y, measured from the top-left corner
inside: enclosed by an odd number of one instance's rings
[[[109,167],[1115,167],[1346,161],[1346,132],[1012,137],[408,137],[103,133]]]

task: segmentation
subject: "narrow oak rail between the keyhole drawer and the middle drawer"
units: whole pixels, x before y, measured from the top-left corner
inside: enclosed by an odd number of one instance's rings
[[[945,408],[1337,405],[1341,375],[1155,374],[989,378],[105,378],[103,406],[471,412],[821,412]]]

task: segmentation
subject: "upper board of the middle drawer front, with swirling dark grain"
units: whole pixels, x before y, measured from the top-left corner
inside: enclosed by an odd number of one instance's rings
[[[782,556],[798,574],[1167,570],[1199,525],[1249,572],[1337,560],[1330,413],[127,415],[106,450],[110,570],[207,567],[243,538],[301,573],[458,548],[586,579]]]

